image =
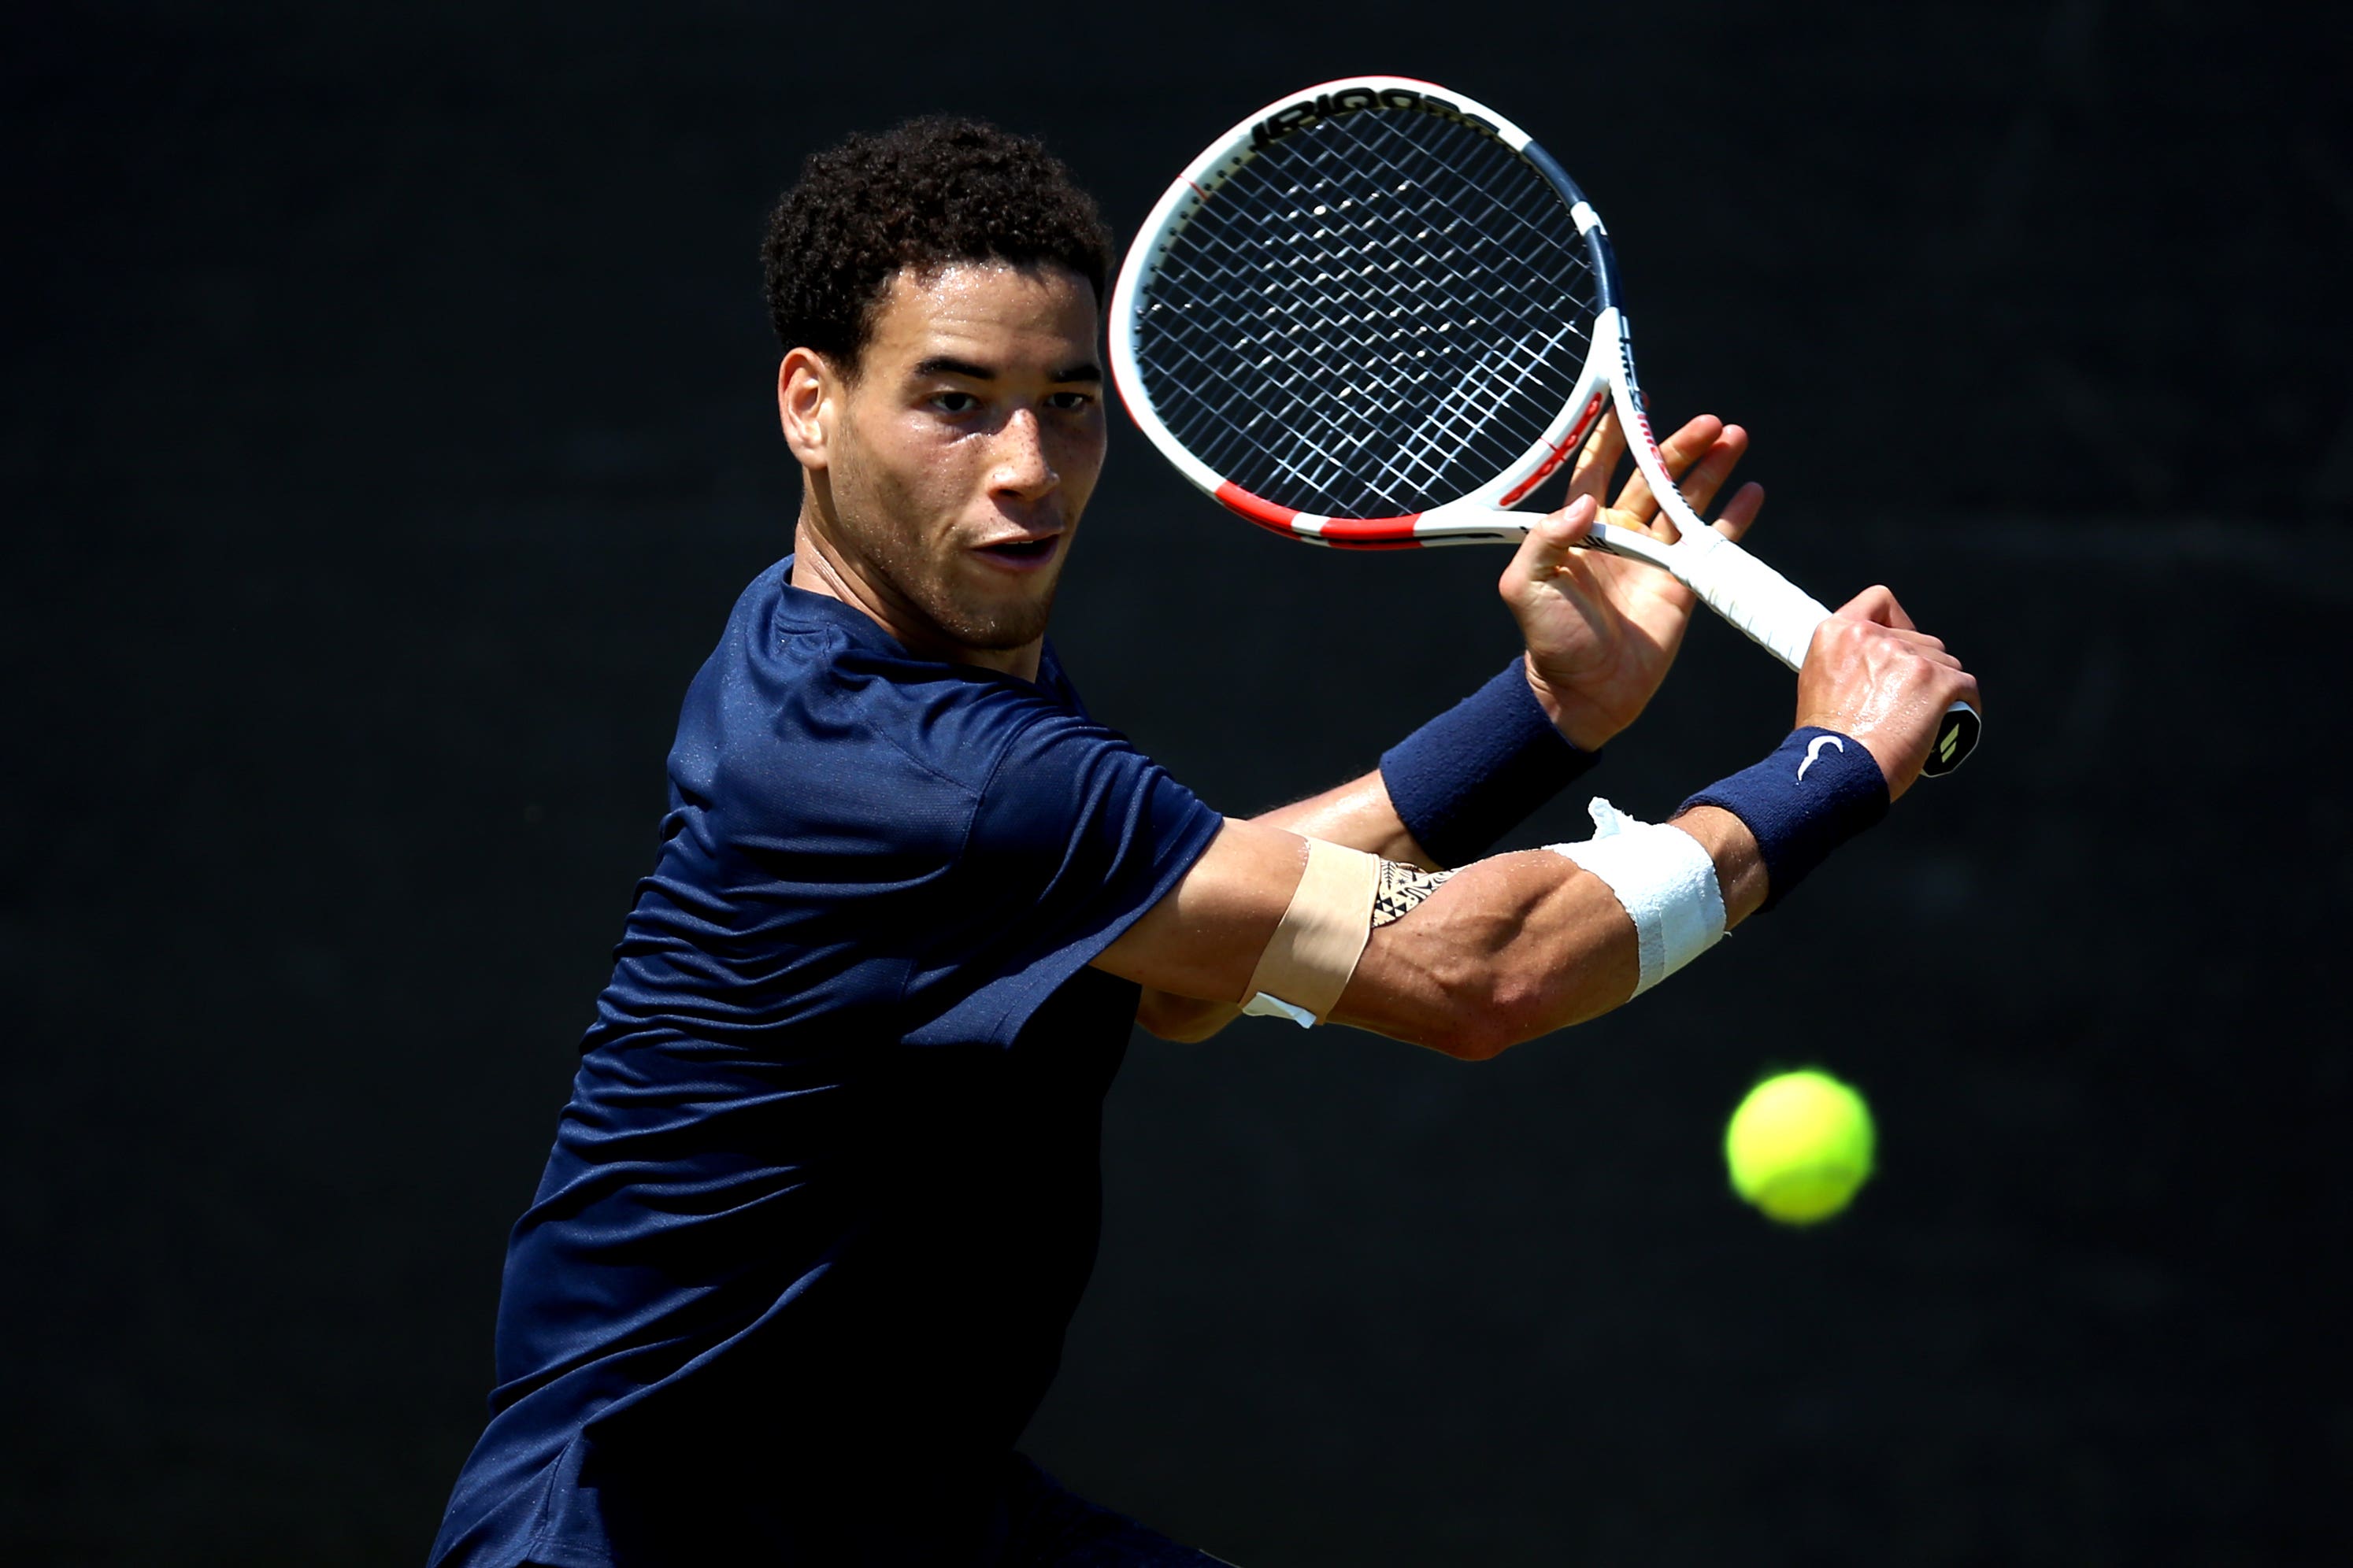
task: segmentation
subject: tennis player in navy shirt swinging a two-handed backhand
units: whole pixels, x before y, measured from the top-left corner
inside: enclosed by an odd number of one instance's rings
[[[1504,574],[1525,658],[1362,778],[1224,818],[1045,639],[1104,465],[1092,202],[1031,141],[920,120],[814,155],[765,254],[793,555],[687,691],[433,1561],[1212,1563],[1014,1448],[1094,1265],[1129,1025],[1247,1009],[1475,1060],[1591,1018],[1885,813],[1977,686],[1871,590],[1762,764],[1482,858],[1642,712],[1692,611],[1572,550],[1605,435]],[[1744,442],[1668,442],[1694,503]],[[1652,517],[1640,482],[1612,515]]]

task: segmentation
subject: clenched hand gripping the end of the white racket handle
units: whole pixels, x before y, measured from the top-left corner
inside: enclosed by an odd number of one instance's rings
[[[1887,776],[1887,799],[1920,778],[1953,703],[1984,712],[1977,677],[1885,588],[1866,588],[1824,621],[1798,670],[1798,729],[1819,724],[1861,741]]]

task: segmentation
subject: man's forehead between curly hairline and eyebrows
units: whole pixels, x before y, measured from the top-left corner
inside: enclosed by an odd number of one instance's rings
[[[1052,263],[958,261],[892,275],[871,348],[925,360],[953,348],[993,348],[1068,360],[1094,353],[1094,284]]]

